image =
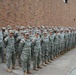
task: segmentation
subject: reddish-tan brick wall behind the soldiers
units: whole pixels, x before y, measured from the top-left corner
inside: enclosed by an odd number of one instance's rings
[[[76,27],[76,0],[0,0],[0,25]]]

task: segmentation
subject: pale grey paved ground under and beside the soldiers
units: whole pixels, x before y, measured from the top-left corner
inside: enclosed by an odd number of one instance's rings
[[[13,73],[6,71],[6,65],[0,64],[0,75],[23,75],[21,68],[13,70]],[[76,75],[76,48],[52,61],[46,67],[34,71],[32,75]]]

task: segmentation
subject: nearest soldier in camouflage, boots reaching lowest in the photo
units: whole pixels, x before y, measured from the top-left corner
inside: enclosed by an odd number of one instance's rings
[[[30,71],[30,65],[31,65],[31,41],[29,39],[29,33],[24,32],[24,38],[20,41],[22,44],[22,54],[21,54],[21,60],[22,60],[22,70],[24,72],[24,75],[31,74]]]

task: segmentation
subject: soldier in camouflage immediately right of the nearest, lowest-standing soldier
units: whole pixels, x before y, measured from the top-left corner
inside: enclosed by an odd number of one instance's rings
[[[34,70],[38,71],[37,68],[42,68],[41,67],[41,39],[39,36],[39,30],[36,30],[35,32],[35,38],[33,39],[33,66]]]

